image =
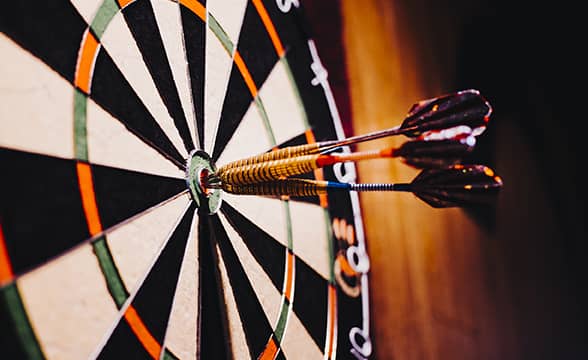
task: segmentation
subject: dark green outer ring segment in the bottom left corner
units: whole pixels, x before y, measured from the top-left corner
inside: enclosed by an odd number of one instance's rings
[[[16,283],[7,285],[0,290],[0,301],[4,301],[8,307],[9,321],[20,340],[20,345],[27,354],[28,359],[44,359],[43,351],[37,341],[26,314]],[[7,324],[2,324],[6,327]]]

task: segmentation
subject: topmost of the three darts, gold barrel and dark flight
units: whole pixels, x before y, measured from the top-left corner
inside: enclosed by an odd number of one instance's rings
[[[443,131],[466,126],[472,135],[484,132],[490,120],[492,107],[477,90],[463,90],[454,94],[422,100],[414,104],[400,126],[379,130],[368,134],[352,136],[343,140],[328,140],[312,144],[286,147],[261,155],[225,164],[220,171],[233,167],[252,165],[291,157],[328,153],[343,146],[349,146],[388,136],[405,135],[418,138],[427,132]]]

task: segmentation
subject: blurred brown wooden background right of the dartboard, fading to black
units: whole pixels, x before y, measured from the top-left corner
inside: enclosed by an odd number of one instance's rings
[[[579,9],[498,0],[305,0],[347,135],[400,124],[421,99],[492,104],[469,163],[495,206],[430,209],[362,194],[378,359],[586,359],[588,253]],[[359,150],[402,139],[363,144]],[[364,162],[360,181],[417,171]]]

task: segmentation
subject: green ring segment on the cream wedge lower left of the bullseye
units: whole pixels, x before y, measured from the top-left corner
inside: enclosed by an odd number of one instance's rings
[[[129,297],[129,293],[123,284],[116,265],[114,264],[114,259],[112,258],[112,253],[110,252],[106,238],[101,236],[92,244],[92,246],[94,248],[94,254],[96,254],[96,257],[98,258],[100,270],[102,270],[102,274],[104,274],[108,291],[116,303],[116,307],[120,309]]]

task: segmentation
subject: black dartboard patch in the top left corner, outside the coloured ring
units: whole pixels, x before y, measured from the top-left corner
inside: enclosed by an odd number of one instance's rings
[[[0,31],[73,83],[88,25],[69,1],[3,1]]]

